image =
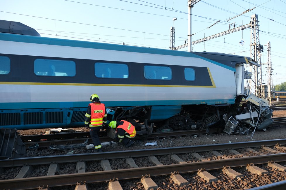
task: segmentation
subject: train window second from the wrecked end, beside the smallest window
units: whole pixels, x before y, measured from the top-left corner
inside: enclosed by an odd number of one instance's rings
[[[172,71],[166,66],[144,66],[144,77],[146,79],[171,80]]]

